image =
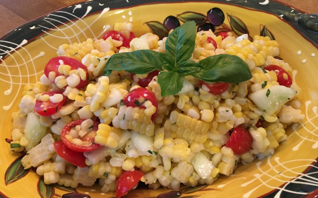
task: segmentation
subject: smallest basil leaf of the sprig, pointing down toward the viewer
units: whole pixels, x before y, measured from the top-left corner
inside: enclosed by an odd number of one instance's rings
[[[160,72],[158,75],[158,83],[161,87],[161,96],[174,95],[181,91],[183,80],[179,74],[175,72]]]

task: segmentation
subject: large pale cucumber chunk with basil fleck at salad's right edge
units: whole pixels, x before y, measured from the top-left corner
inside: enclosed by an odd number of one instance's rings
[[[296,91],[292,88],[274,85],[251,94],[252,101],[266,113],[274,113],[286,102],[294,98]]]

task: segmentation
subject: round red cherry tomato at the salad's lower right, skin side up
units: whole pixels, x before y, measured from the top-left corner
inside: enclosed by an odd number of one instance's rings
[[[225,145],[230,147],[235,154],[241,155],[251,148],[252,136],[245,128],[237,126]]]

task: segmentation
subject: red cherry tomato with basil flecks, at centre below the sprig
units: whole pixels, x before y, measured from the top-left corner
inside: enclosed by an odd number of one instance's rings
[[[129,92],[124,98],[123,103],[126,104],[126,106],[138,106],[141,109],[145,109],[146,107],[143,105],[143,101],[145,99],[149,100],[152,103],[152,105],[154,105],[158,109],[156,95],[149,89],[142,87],[136,88]],[[154,114],[152,114],[151,119],[154,120],[156,118],[156,115],[157,110]]]

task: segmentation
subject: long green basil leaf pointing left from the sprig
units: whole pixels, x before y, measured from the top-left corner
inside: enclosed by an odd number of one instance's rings
[[[108,73],[109,70],[125,70],[136,74],[149,73],[154,70],[162,71],[162,66],[168,63],[163,61],[158,54],[163,53],[142,49],[114,54],[106,62],[103,74]]]

